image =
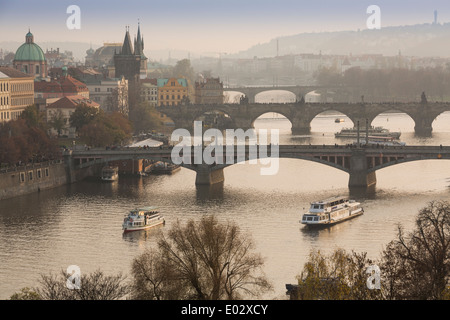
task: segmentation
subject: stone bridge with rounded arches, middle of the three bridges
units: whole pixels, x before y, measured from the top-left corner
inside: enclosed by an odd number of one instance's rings
[[[276,112],[285,116],[292,124],[293,134],[308,134],[311,121],[325,111],[337,111],[349,117],[356,127],[359,122],[365,126],[381,113],[402,112],[412,118],[417,135],[429,136],[432,133],[433,121],[443,112],[450,111],[450,103],[248,103],[223,105],[179,105],[157,108],[159,112],[170,117],[175,128],[191,130],[196,119],[207,112],[219,111],[228,115],[234,128],[247,130],[253,127],[254,121],[268,112]]]

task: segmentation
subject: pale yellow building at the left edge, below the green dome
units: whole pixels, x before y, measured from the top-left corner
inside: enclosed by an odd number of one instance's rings
[[[0,72],[9,77],[8,120],[16,120],[27,106],[34,104],[34,76],[10,67],[0,67]]]

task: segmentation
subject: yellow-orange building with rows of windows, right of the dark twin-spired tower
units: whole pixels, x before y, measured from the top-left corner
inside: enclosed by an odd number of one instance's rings
[[[157,85],[158,106],[177,106],[192,101],[186,79],[158,79]]]

